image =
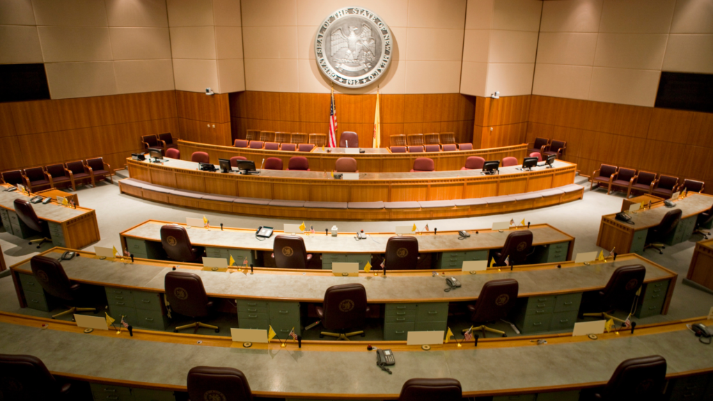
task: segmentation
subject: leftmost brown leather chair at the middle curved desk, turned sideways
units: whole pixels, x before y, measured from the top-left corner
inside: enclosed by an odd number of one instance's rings
[[[56,259],[48,258],[43,255],[33,256],[30,259],[30,268],[42,289],[49,295],[61,300],[61,302],[69,308],[62,313],[53,315],[53,319],[59,316],[69,315],[70,313],[87,312],[90,310],[96,313],[96,308],[76,307],[76,305],[86,305],[90,303],[91,300],[87,299],[84,285],[71,282],[67,277],[67,273],[64,272],[62,264]]]

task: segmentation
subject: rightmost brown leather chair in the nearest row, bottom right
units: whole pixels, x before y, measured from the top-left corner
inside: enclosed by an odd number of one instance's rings
[[[595,400],[662,400],[666,367],[661,355],[627,359],[617,366],[604,389],[595,393]]]

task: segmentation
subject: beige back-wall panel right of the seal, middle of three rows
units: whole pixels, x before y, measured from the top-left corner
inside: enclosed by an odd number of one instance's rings
[[[461,61],[463,29],[409,28],[407,35],[406,60]]]

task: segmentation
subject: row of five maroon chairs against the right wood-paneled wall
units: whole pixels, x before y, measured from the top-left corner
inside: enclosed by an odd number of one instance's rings
[[[594,184],[607,186],[607,195],[613,191],[626,191],[627,198],[634,193],[649,193],[662,198],[671,198],[673,193],[679,191],[702,193],[705,189],[703,181],[689,180],[683,182],[675,176],[657,174],[652,171],[635,170],[602,164],[590,176],[590,189]]]

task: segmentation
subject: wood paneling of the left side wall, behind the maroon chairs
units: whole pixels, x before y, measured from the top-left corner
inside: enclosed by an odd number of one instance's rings
[[[160,91],[0,103],[0,171],[98,156],[122,168],[141,136],[179,137],[175,99]]]

